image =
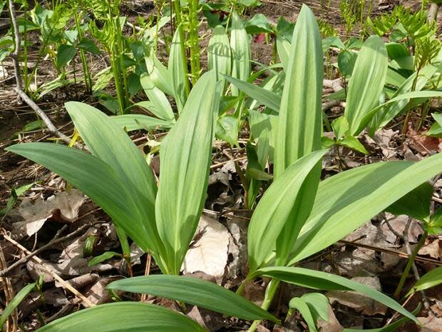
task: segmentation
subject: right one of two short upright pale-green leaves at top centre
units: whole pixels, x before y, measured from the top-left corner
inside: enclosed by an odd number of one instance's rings
[[[245,81],[250,76],[250,41],[242,20],[236,11],[232,12],[232,28],[230,32],[230,49],[232,50],[232,77]],[[232,96],[240,91],[232,86]]]

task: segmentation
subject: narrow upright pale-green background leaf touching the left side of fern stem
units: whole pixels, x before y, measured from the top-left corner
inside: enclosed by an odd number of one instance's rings
[[[183,110],[184,104],[187,98],[186,92],[186,81],[184,64],[186,59],[183,59],[183,54],[181,53],[180,44],[180,31],[183,29],[182,26],[178,26],[173,35],[172,44],[170,45],[170,56],[169,56],[169,75],[172,80],[173,96],[175,97],[175,102],[177,104],[178,112]]]

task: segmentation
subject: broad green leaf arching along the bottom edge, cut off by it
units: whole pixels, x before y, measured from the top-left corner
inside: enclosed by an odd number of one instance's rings
[[[207,332],[198,323],[150,303],[117,302],[71,313],[36,332]]]

